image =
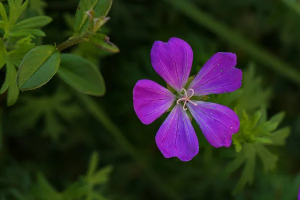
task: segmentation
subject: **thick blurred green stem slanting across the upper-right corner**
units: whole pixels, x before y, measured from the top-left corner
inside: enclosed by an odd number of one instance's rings
[[[295,70],[291,65],[283,62],[277,56],[269,53],[259,45],[255,45],[251,41],[247,40],[242,35],[231,30],[228,26],[220,23],[207,13],[198,9],[197,6],[192,4],[188,0],[165,0],[176,9],[184,13],[190,19],[194,20],[198,24],[212,31],[217,36],[224,39],[226,42],[232,43],[242,49],[248,54],[253,56],[257,61],[261,62],[265,66],[277,71],[280,75],[283,75],[291,79],[294,83],[300,86],[300,72]]]

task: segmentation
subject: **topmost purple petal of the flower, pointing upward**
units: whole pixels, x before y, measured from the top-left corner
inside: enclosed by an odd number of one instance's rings
[[[192,56],[188,43],[176,37],[168,42],[155,41],[150,53],[154,70],[176,91],[187,82]]]

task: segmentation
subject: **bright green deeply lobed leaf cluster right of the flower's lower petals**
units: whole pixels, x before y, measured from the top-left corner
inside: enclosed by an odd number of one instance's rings
[[[290,129],[284,127],[275,130],[283,116],[284,113],[281,112],[266,121],[265,108],[257,110],[251,117],[243,112],[239,131],[232,136],[237,154],[225,168],[225,172],[230,173],[245,162],[240,180],[233,193],[240,191],[247,182],[253,182],[256,155],[262,162],[264,172],[275,168],[278,157],[264,145],[283,145],[285,143],[285,138],[289,135]]]

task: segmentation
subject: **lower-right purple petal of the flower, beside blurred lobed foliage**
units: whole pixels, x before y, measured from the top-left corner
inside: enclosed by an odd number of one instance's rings
[[[193,101],[186,103],[188,110],[200,126],[207,141],[214,147],[229,147],[232,134],[239,129],[237,114],[224,105],[212,102]]]

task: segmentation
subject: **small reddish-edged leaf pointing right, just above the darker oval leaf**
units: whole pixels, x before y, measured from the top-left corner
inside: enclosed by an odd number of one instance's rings
[[[89,41],[95,46],[102,48],[111,53],[119,52],[119,48],[109,41],[109,37],[104,34],[93,34]]]

